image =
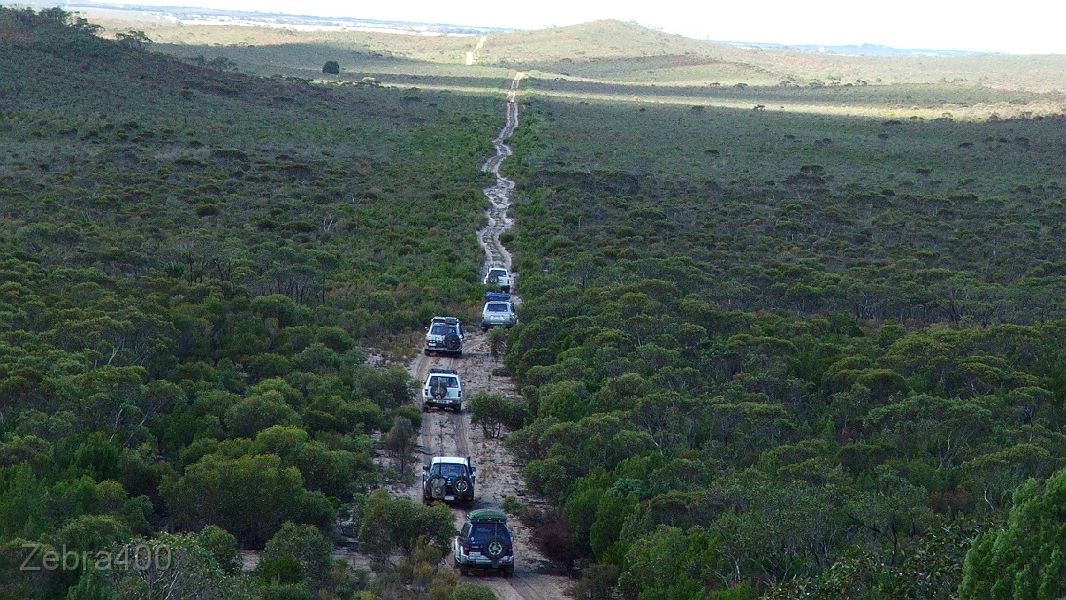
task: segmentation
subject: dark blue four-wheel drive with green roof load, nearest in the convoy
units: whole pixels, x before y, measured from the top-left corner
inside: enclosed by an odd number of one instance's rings
[[[494,569],[511,577],[515,573],[515,547],[507,515],[499,508],[481,508],[467,515],[467,522],[452,541],[455,568],[462,574],[470,569]]]

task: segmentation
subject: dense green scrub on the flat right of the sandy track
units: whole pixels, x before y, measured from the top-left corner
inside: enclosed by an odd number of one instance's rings
[[[763,116],[531,99],[510,443],[584,589],[952,597],[1064,466],[1061,121]]]

